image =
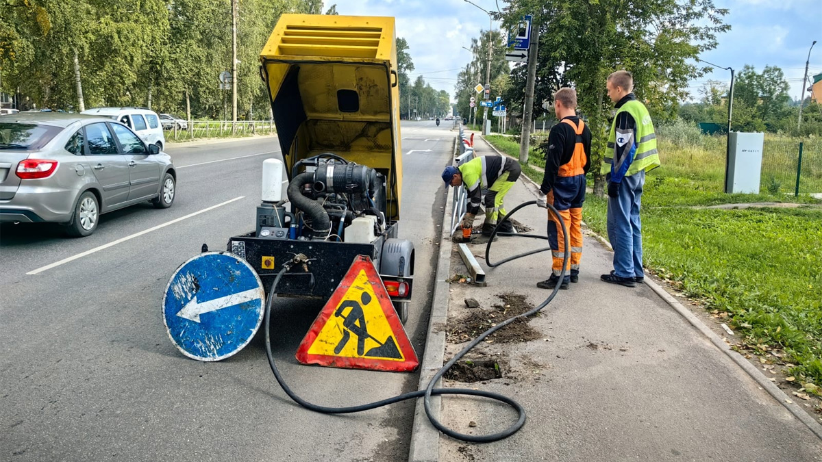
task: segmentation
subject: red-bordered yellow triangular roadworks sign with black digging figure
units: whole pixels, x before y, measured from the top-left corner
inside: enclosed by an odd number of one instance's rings
[[[357,256],[297,349],[303,364],[410,372],[419,360],[371,259]]]

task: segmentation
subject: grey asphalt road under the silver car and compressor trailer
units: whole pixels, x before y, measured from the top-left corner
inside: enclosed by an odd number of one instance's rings
[[[422,358],[437,247],[429,239],[439,235],[440,173],[454,134],[409,122],[402,135],[399,234],[417,249],[406,329]],[[179,179],[167,210],[146,203],[103,215],[80,239],[49,225],[0,228],[0,460],[407,459],[413,403],[312,413],[280,390],[261,335],[219,363],[174,347],[161,316],[170,275],[203,243],[223,250],[253,229],[261,163],[279,157],[279,144],[265,137],[168,150]],[[275,355],[298,394],[336,406],[413,390],[416,373],[296,363],[320,308],[292,299],[273,316]]]

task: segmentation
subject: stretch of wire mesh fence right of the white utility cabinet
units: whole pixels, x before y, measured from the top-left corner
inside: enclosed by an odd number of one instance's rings
[[[822,194],[822,140],[765,139],[760,191]]]

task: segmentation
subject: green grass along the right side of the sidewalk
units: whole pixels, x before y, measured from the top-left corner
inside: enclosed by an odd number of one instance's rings
[[[801,383],[818,385],[822,383],[822,209],[704,206],[762,201],[818,205],[820,201],[779,190],[724,194],[724,151],[716,154],[724,140],[704,138],[687,147],[659,141],[663,167],[648,173],[643,193],[644,265],[716,312],[715,316],[727,316],[725,322],[742,335],[744,348],[775,352],[781,360],[773,355],[765,358],[786,365]],[[503,150],[505,140],[487,139]],[[519,152],[519,146],[507,146],[505,151],[514,149]],[[542,181],[542,173],[523,171]],[[606,211],[606,199],[588,196],[585,222],[603,237],[607,237]]]

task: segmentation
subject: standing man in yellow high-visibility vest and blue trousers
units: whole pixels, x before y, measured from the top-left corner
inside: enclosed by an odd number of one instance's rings
[[[657,136],[645,105],[632,93],[630,72],[608,76],[608,97],[617,114],[608,137],[601,173],[608,188],[608,240],[614,249],[614,269],[601,279],[611,284],[635,287],[644,280],[642,269],[642,223],[640,205],[645,172],[659,166]]]

